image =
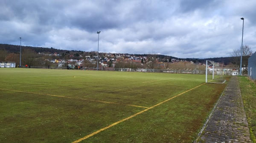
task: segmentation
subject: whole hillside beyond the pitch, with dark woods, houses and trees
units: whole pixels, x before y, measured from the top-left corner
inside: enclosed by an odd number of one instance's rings
[[[68,68],[68,69],[145,69],[145,70],[184,70],[185,73],[198,73],[206,70],[206,60],[218,62],[219,68],[225,71],[237,71],[229,57],[180,59],[173,56],[128,53],[98,53],[76,50],[60,50],[55,48],[20,47],[0,44],[0,67],[32,67],[32,68]],[[20,62],[21,58],[21,62]],[[243,62],[246,63],[245,60]],[[244,64],[246,65],[246,64]],[[208,65],[209,70],[212,69]],[[216,70],[216,69],[215,69]],[[136,71],[136,70],[135,70]],[[140,70],[144,71],[144,70]],[[170,71],[166,71],[170,72]],[[177,72],[177,71],[172,71]]]

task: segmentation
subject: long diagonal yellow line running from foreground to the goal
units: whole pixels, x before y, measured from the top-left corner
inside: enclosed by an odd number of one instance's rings
[[[204,83],[204,84],[206,84],[206,83]],[[200,86],[202,86],[202,85],[204,85],[204,84],[198,85],[197,87],[200,87]],[[194,87],[194,88],[192,88],[192,89],[190,89],[190,90],[193,90],[193,89],[195,89],[195,88],[197,88],[197,87]],[[154,106],[152,106],[152,107],[149,107],[149,108],[147,108],[147,109],[145,109],[145,110],[143,110],[143,111],[140,111],[140,112],[138,112],[138,113],[136,113],[136,114],[134,114],[134,115],[131,115],[131,116],[128,117],[128,118],[125,118],[125,119],[122,119],[122,120],[120,120],[120,121],[117,121],[116,123],[112,123],[111,125],[106,126],[105,128],[99,129],[98,131],[93,132],[93,133],[91,133],[91,134],[89,134],[89,135],[87,135],[87,136],[84,136],[84,137],[82,137],[82,138],[80,138],[80,139],[78,139],[78,140],[75,140],[75,141],[72,142],[72,143],[79,143],[79,142],[81,142],[82,140],[87,139],[88,137],[91,137],[91,136],[93,136],[93,135],[96,135],[96,134],[98,134],[99,132],[102,132],[102,131],[104,131],[105,129],[108,129],[108,128],[112,127],[112,126],[115,126],[115,125],[118,124],[118,123],[121,123],[121,122],[123,122],[123,121],[126,121],[126,120],[128,120],[128,119],[130,119],[130,118],[133,118],[133,117],[137,116],[137,115],[140,115],[141,113],[146,112],[146,111],[148,111],[149,109],[152,109],[152,108],[154,108],[154,107],[157,107],[158,105],[163,104],[163,103],[165,103],[166,101],[169,101],[169,100],[171,100],[171,99],[173,99],[173,98],[175,98],[175,97],[177,97],[177,96],[179,96],[179,95],[182,95],[182,94],[184,94],[184,93],[187,93],[187,92],[189,92],[190,90],[187,90],[187,91],[185,91],[185,92],[183,92],[183,93],[180,93],[180,94],[178,94],[178,95],[175,95],[175,96],[173,96],[172,98],[169,98],[169,99],[167,99],[167,100],[165,100],[165,101],[163,101],[163,102],[160,102],[160,103],[158,103],[158,104],[156,104],[156,105],[154,105]]]

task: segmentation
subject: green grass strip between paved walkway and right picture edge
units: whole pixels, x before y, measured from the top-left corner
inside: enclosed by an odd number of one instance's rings
[[[256,84],[246,76],[239,76],[239,86],[253,143],[256,143]]]

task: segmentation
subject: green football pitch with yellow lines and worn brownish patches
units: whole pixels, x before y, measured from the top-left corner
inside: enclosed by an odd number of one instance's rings
[[[0,142],[192,143],[224,78],[0,68]]]

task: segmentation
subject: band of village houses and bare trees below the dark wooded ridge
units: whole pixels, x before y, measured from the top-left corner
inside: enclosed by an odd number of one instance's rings
[[[32,67],[32,68],[67,68],[67,69],[87,69],[87,70],[114,70],[114,69],[129,69],[125,71],[143,71],[143,72],[152,72],[151,70],[165,70],[162,72],[171,72],[171,73],[198,73],[205,71],[205,63],[195,63],[193,61],[186,61],[181,59],[174,58],[157,58],[156,55],[148,56],[135,56],[129,54],[113,54],[113,53],[100,53],[99,56],[96,56],[96,52],[91,53],[91,56],[88,54],[67,54],[64,53],[30,53],[35,54],[35,57],[38,58],[29,58],[30,60],[26,62],[24,60],[24,65],[19,66],[18,62],[2,62],[0,67]],[[25,53],[26,55],[26,53]],[[41,58],[39,58],[41,57]],[[8,59],[8,56],[7,56]],[[34,59],[34,60],[32,60]],[[41,60],[39,60],[41,59]],[[32,62],[30,64],[29,62]],[[33,65],[33,63],[39,62],[39,65]],[[98,64],[97,64],[98,62]],[[231,67],[230,65],[224,65],[223,63],[218,63],[217,69],[219,71],[225,71],[225,74],[237,75],[238,71],[236,68]],[[221,68],[221,70],[220,70]],[[140,69],[140,70],[138,70]],[[208,65],[208,70],[213,70],[212,65]]]

